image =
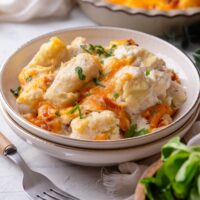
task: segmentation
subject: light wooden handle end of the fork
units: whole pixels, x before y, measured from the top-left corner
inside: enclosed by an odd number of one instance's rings
[[[0,154],[8,155],[16,152],[16,147],[0,132]]]

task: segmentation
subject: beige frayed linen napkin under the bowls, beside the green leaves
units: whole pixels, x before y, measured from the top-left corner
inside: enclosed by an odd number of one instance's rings
[[[188,134],[184,137],[185,142],[188,145],[200,144],[200,121],[193,124]],[[143,162],[143,165],[127,162],[118,166],[118,172],[108,172],[108,170],[102,170],[102,182],[107,192],[113,199],[120,200],[133,200],[133,192],[136,184],[143,174],[144,170],[149,165],[149,160],[154,162],[157,156],[150,157]]]

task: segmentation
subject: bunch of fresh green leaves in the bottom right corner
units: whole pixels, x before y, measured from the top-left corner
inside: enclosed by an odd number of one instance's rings
[[[146,199],[200,200],[200,146],[187,147],[176,137],[163,149],[163,166],[141,181]]]

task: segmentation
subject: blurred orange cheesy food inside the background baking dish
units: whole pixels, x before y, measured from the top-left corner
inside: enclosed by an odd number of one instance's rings
[[[112,4],[124,5],[131,8],[144,9],[187,9],[200,7],[199,0],[105,0]]]

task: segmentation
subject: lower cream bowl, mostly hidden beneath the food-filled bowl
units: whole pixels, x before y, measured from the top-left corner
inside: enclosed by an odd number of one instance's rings
[[[161,147],[172,137],[183,137],[193,125],[199,113],[198,109],[184,124],[184,126],[161,140],[131,148],[95,150],[60,145],[37,137],[19,126],[2,106],[0,106],[0,110],[12,130],[28,144],[33,145],[53,157],[85,166],[111,166],[122,162],[141,160],[155,155],[160,152]]]

